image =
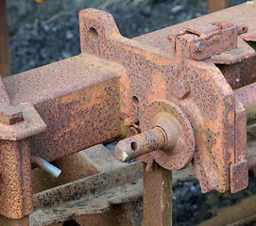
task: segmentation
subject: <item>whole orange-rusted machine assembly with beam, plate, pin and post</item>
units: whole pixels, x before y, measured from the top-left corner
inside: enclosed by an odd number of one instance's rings
[[[1,82],[0,214],[23,220],[38,203],[85,195],[75,182],[33,202],[31,161],[113,139],[118,159],[145,162],[144,225],[171,225],[172,170],[191,161],[203,193],[246,188],[255,22],[247,2],[128,40],[111,14],[81,10],[79,56]]]

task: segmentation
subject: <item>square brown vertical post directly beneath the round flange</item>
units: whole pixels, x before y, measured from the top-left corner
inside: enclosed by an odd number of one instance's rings
[[[172,225],[172,171],[144,169],[144,226]]]

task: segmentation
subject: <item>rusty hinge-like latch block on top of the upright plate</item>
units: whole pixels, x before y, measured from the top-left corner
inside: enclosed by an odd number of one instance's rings
[[[190,42],[190,56],[201,60],[237,47],[237,36],[247,32],[247,25],[237,26],[226,22],[191,25],[167,38],[173,50],[179,52],[177,41],[185,38]]]

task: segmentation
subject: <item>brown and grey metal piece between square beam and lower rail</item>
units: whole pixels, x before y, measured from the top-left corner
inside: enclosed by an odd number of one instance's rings
[[[33,194],[126,165],[115,159],[102,144],[62,157],[53,164],[61,169],[59,178],[54,178],[39,168],[32,170]]]

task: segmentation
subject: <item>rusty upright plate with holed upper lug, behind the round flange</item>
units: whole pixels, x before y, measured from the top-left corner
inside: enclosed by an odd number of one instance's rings
[[[197,36],[180,36],[176,55],[172,51],[166,54],[157,45],[148,47],[140,39],[120,36],[110,14],[86,9],[79,16],[82,52],[119,62],[127,69],[128,78],[120,79],[122,112],[136,114],[131,107],[132,96],[139,100],[140,115],[145,105],[156,99],[179,105],[196,130],[194,165],[202,191],[228,190],[230,165],[234,163],[234,94],[213,64],[190,58],[190,42]],[[96,38],[90,33],[92,27]],[[167,40],[170,34],[160,33],[154,32],[155,40]],[[190,93],[184,100],[173,92],[179,81],[189,83]]]

